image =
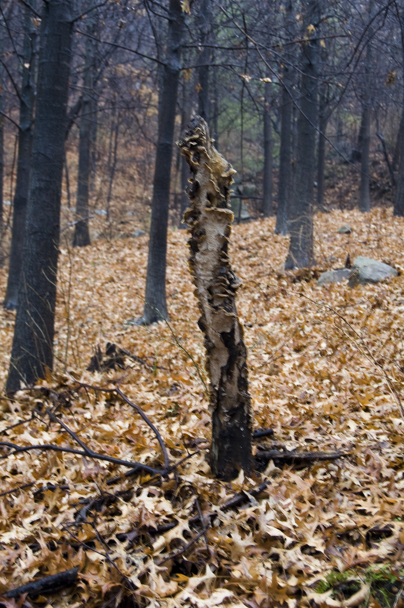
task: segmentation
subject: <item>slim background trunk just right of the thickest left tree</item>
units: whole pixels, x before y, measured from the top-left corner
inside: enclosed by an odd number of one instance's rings
[[[92,129],[92,80],[94,72],[94,36],[95,18],[87,17],[86,60],[83,75],[83,103],[81,105],[80,134],[78,142],[78,175],[77,175],[77,201],[76,215],[83,218],[75,226],[73,246],[85,247],[91,244],[88,227],[89,217],[89,178],[90,178],[90,151]]]

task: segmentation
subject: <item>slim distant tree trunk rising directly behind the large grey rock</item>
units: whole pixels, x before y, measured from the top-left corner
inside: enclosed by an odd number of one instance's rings
[[[372,16],[373,0],[369,0],[369,18]],[[372,28],[369,28],[369,37],[372,36]],[[372,46],[370,41],[366,45],[366,60],[365,60],[365,86],[363,94],[362,106],[362,124],[361,124],[361,175],[360,175],[360,191],[359,191],[359,210],[361,212],[369,212],[371,210],[371,197],[369,190],[369,151],[371,143],[371,111],[372,111]]]

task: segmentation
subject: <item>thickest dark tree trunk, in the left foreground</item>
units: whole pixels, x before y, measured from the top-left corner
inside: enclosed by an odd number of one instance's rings
[[[53,368],[72,2],[44,3],[26,236],[6,390],[30,385]]]

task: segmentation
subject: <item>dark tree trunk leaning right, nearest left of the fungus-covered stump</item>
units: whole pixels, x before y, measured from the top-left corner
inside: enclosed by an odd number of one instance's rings
[[[165,319],[167,316],[165,275],[169,186],[183,21],[180,0],[169,0],[168,44],[163,66],[162,88],[160,89],[160,100],[164,100],[164,103],[159,103],[159,133],[151,204],[145,308],[143,316],[139,320],[146,325],[162,318]]]

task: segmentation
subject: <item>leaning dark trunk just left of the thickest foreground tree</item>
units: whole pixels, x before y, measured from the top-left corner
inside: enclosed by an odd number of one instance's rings
[[[26,8],[24,10],[23,65],[19,104],[17,178],[13,201],[13,227],[9,277],[7,279],[7,290],[4,298],[4,306],[9,310],[13,310],[17,307],[31,163],[33,106],[35,99],[35,85],[33,80],[35,78],[36,46],[36,32],[32,25],[31,17],[32,13],[30,9]]]

